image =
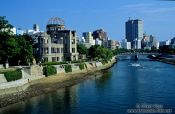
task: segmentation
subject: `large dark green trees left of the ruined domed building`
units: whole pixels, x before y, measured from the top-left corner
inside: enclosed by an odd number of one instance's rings
[[[0,16],[0,64],[26,65],[33,60],[33,40],[28,35],[13,35],[13,26]]]

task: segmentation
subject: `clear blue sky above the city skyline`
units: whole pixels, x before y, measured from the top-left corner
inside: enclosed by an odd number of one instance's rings
[[[67,29],[82,32],[104,29],[108,37],[125,38],[125,22],[141,19],[144,32],[159,41],[175,37],[175,1],[171,0],[1,0],[0,16],[13,26],[46,30],[49,18],[64,19]]]

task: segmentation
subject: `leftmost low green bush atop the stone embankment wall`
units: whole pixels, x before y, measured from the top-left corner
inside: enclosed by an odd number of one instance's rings
[[[20,69],[17,69],[15,71],[7,71],[7,72],[4,72],[4,76],[8,82],[15,81],[22,78],[22,72]]]

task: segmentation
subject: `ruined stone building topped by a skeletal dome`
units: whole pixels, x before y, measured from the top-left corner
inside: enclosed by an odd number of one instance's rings
[[[40,33],[38,36],[38,54],[40,59],[46,62],[76,61],[77,34],[76,31],[67,30],[60,23],[52,21],[47,24],[47,32]]]

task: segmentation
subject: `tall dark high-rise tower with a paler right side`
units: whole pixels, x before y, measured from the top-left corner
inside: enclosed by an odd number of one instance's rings
[[[143,39],[143,21],[128,20],[125,23],[125,35],[128,42],[131,42],[131,47],[135,48],[135,41],[141,41]]]

